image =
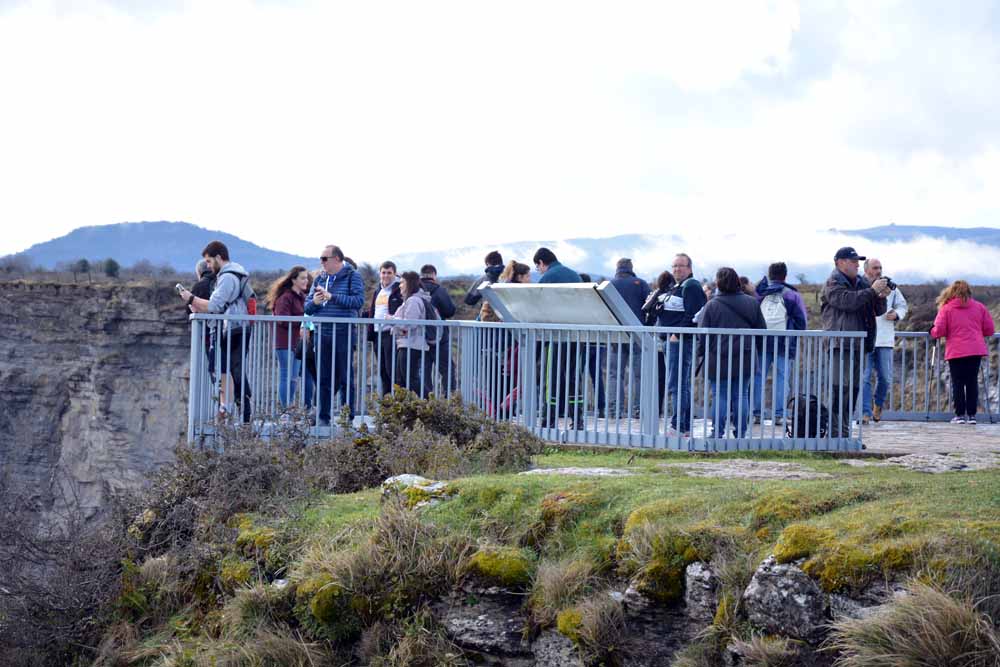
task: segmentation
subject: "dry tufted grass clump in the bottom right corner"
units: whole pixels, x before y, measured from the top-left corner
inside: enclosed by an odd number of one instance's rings
[[[868,618],[835,623],[829,645],[840,667],[1000,665],[1000,636],[973,601],[921,584]]]

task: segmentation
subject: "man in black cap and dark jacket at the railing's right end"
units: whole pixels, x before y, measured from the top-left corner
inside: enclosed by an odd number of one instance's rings
[[[854,248],[838,250],[833,256],[835,268],[820,295],[824,330],[864,331],[866,334],[863,346],[852,340],[834,344],[830,405],[830,436],[834,438],[850,436],[850,411],[861,388],[861,364],[864,356],[875,349],[875,318],[885,313],[885,298],[891,291],[885,278],[869,285],[868,280],[858,274],[864,259]]]

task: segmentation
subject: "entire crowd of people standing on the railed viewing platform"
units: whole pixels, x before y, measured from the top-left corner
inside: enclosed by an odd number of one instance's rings
[[[367,326],[365,343],[372,345],[378,360],[378,389],[382,393],[389,392],[394,384],[424,396],[438,382],[443,387],[456,387],[449,328],[406,323],[447,320],[455,315],[455,304],[448,290],[438,282],[433,265],[425,264],[419,273],[400,274],[394,262],[383,262],[379,266],[378,284],[366,303],[364,280],[339,247],[324,247],[319,260],[320,271],[311,273],[306,267],[295,266],[271,285],[266,300],[272,314],[373,319]],[[591,281],[587,274],[560,263],[548,248],[539,248],[532,262],[541,276],[538,281],[541,284]],[[831,368],[844,369],[830,378],[833,388],[829,431],[836,438],[849,434],[849,415],[852,406],[857,405],[859,392],[862,420],[867,423],[881,419],[893,377],[896,325],[907,315],[907,302],[898,286],[883,276],[878,259],[859,256],[854,248],[844,247],[836,251],[833,263],[820,293],[823,329],[865,332],[863,347],[846,343],[831,347]],[[222,361],[218,368],[214,359],[217,355],[209,352],[210,372],[230,378],[222,383],[221,409],[232,409],[226,392],[233,392],[242,418],[249,420],[250,387],[242,370],[243,354],[239,352],[245,349],[248,331],[247,322],[239,316],[256,312],[256,295],[249,286],[249,274],[230,259],[228,249],[220,241],[212,241],[204,248],[196,273],[199,280],[190,291],[178,285],[180,296],[190,310],[236,316],[226,319],[218,332],[206,340],[206,349],[226,351],[219,355]],[[650,285],[636,275],[630,259],[618,260],[611,283],[639,322],[675,330],[663,336],[662,353],[657,354],[660,405],[676,407],[669,424],[672,433],[690,434],[691,382],[699,372],[692,372],[695,364],[698,369],[704,367],[704,377],[712,388],[716,436],[722,437],[732,429],[736,437],[743,437],[751,420],[760,424],[770,419],[776,426],[786,420],[788,370],[797,354],[795,336],[764,339],[713,335],[695,344],[694,331],[688,334],[676,330],[803,331],[808,322],[806,304],[787,276],[787,265],[775,262],[756,284],[741,277],[732,267],[718,269],[714,281],[703,283],[694,277],[691,257],[678,253],[670,270],[661,273]],[[482,298],[483,286],[527,282],[531,282],[528,264],[518,261],[504,264],[500,252],[493,251],[486,255],[483,276],[471,285],[464,301],[469,306],[480,306],[477,319],[498,322],[501,315]],[[937,305],[939,311],[931,336],[946,339],[945,358],[952,376],[955,409],[952,421],[975,423],[979,365],[988,353],[985,338],[994,334],[994,323],[962,280],[942,291]],[[351,326],[342,322],[317,327],[306,317],[276,327],[273,342],[279,368],[278,398],[283,406],[294,401],[298,380],[304,377],[302,396],[311,405],[314,394],[318,394],[320,425],[330,422],[334,395],[351,408],[352,359],[358,344],[357,337],[352,338],[349,333]],[[722,344],[727,347],[717,349]],[[584,344],[581,349],[575,343],[560,343],[540,350],[545,365],[543,376],[559,379],[559,383],[546,382],[543,425],[558,416],[580,414],[573,408],[582,400],[579,384],[583,379],[576,367],[581,352],[586,355],[598,416],[638,416],[641,351],[630,345],[609,346],[603,353],[604,363],[610,368],[623,369],[631,377],[619,377],[615,372],[606,374],[612,386],[605,393],[604,377],[598,369],[602,352],[598,348],[595,344]],[[630,355],[636,358],[630,359]],[[303,372],[303,365],[307,372]],[[508,353],[503,365],[517,367],[516,349]],[[765,414],[764,387],[769,377],[773,378],[774,397],[770,401],[770,414]],[[230,383],[232,389],[228,388]],[[559,386],[560,383],[564,384]],[[517,399],[516,387],[512,389],[505,398],[508,408]]]

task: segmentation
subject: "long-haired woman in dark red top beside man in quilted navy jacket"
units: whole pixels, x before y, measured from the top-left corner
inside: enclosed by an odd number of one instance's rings
[[[272,315],[302,317],[305,314],[306,294],[312,284],[312,277],[304,266],[294,266],[292,270],[275,280],[267,290],[267,303]],[[295,400],[302,360],[295,356],[295,349],[302,335],[301,322],[277,322],[274,332],[274,351],[278,356],[278,400],[282,408],[287,408]],[[303,345],[303,348],[305,346]],[[303,399],[306,406],[312,404],[312,376],[306,374]]]

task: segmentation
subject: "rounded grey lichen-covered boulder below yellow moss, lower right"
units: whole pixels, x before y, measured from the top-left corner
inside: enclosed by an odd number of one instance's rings
[[[743,593],[750,622],[766,632],[816,641],[828,623],[823,591],[809,575],[789,563],[768,557]]]

